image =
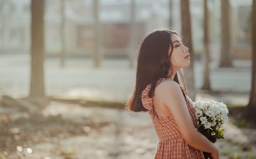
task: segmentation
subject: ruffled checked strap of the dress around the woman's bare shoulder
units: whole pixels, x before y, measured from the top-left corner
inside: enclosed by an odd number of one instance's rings
[[[171,80],[171,79],[169,79],[169,78],[160,78],[156,82],[156,86],[158,86],[164,80]],[[171,80],[171,81],[174,81],[174,80]],[[152,115],[153,118],[154,118],[156,114],[155,114],[155,111],[154,111],[153,97],[152,98],[148,97],[148,93],[150,92],[151,85],[152,85],[152,83],[150,85],[148,85],[146,87],[146,89],[142,92],[142,104],[148,110],[147,113]],[[179,85],[179,83],[178,83],[178,85]],[[185,92],[184,92],[183,87],[181,87],[180,85],[179,85],[179,87],[180,87],[183,95],[185,96]]]

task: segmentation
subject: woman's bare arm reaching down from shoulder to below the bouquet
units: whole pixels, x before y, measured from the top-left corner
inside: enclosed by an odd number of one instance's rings
[[[218,158],[218,146],[213,144],[200,132],[196,131],[188,112],[184,96],[176,82],[161,82],[159,86],[155,88],[154,101],[155,100],[158,101],[156,102],[158,105],[164,105],[170,110],[181,135],[188,145],[204,152],[209,152],[212,155],[215,154],[216,157],[214,158]],[[154,106],[158,107],[158,105]]]

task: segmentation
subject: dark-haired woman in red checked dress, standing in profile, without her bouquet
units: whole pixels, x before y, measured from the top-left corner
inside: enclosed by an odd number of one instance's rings
[[[204,158],[202,151],[219,158],[219,148],[195,129],[195,107],[180,71],[189,58],[177,32],[168,29],[148,34],[139,49],[136,86],[127,109],[150,114],[159,138],[155,159]]]

